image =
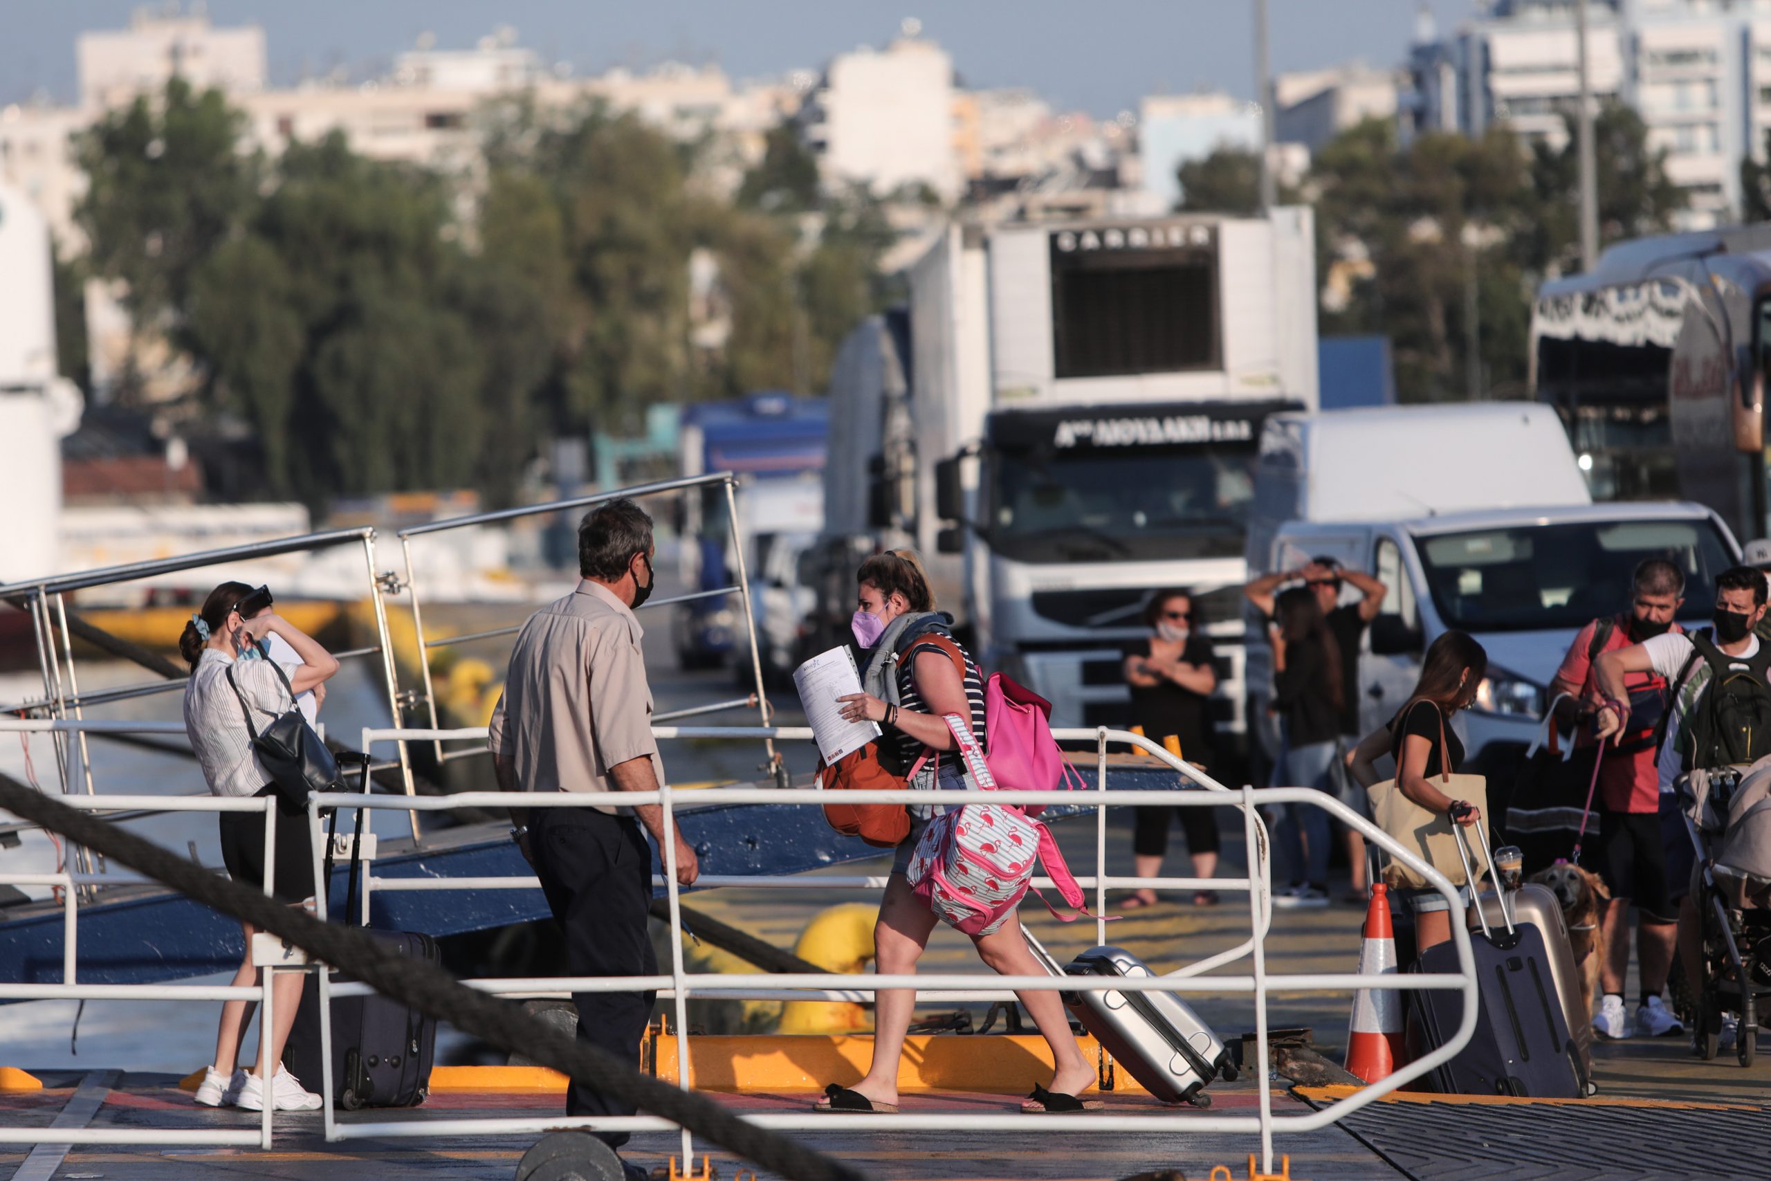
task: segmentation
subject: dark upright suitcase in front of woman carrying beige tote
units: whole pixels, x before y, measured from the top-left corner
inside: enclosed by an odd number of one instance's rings
[[[1465,861],[1465,878],[1475,882],[1463,825],[1452,825],[1458,853]],[[1481,825],[1475,825],[1482,853],[1493,875],[1493,855]],[[1498,875],[1495,875],[1498,876]],[[1512,917],[1509,901],[1500,903],[1504,928],[1491,928],[1481,907],[1475,908],[1481,933],[1470,933],[1475,961],[1477,1020],[1470,1041],[1449,1062],[1427,1075],[1442,1094],[1512,1094],[1534,1100],[1576,1100],[1587,1094],[1580,1050],[1569,1036],[1550,969],[1550,949],[1543,931]],[[1456,974],[1458,947],[1443,942],[1429,947],[1410,967],[1411,972]],[[1463,1023],[1463,993],[1450,990],[1410,990],[1410,1041],[1420,1052],[1443,1046]]]

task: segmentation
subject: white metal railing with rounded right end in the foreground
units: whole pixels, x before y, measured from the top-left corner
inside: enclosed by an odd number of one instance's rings
[[[751,728],[685,728],[685,726],[657,726],[653,735],[657,738],[751,738],[760,737],[762,729]],[[453,729],[453,731],[432,731],[432,729],[365,729],[363,749],[368,751],[377,742],[398,742],[398,740],[453,740],[453,738],[471,738],[483,735],[483,729]],[[811,731],[806,728],[769,728],[767,737],[772,740],[809,740]],[[1006,976],[983,976],[983,974],[914,974],[914,976],[871,976],[866,983],[857,983],[854,976],[827,972],[827,974],[721,974],[721,972],[687,972],[684,969],[682,958],[682,908],[680,908],[680,887],[677,884],[677,850],[675,841],[661,841],[661,855],[664,861],[664,873],[655,878],[655,882],[664,885],[666,898],[669,903],[669,931],[671,931],[671,967],[669,974],[655,976],[632,976],[632,977],[547,977],[547,979],[473,979],[464,981],[468,986],[480,992],[494,995],[545,995],[558,992],[641,992],[655,990],[661,999],[668,999],[675,1007],[675,1027],[680,1030],[677,1038],[677,1077],[684,1087],[692,1085],[694,1071],[691,1061],[691,1038],[682,1032],[689,1029],[687,1023],[687,999],[708,997],[708,999],[792,999],[792,1000],[864,1000],[873,997],[878,988],[914,988],[917,992],[940,993],[942,997],[955,1000],[995,1000],[1011,995],[1013,992],[1036,990],[1036,992],[1178,992],[1178,993],[1231,993],[1231,995],[1252,995],[1254,997],[1254,1015],[1256,1015],[1256,1066],[1252,1075],[1256,1078],[1259,1103],[1256,1115],[978,1115],[978,1114],[947,1114],[947,1115],[894,1115],[889,1121],[893,1131],[905,1130],[930,1130],[930,1131],[1034,1131],[1034,1130],[1063,1130],[1063,1128],[1089,1128],[1094,1131],[1250,1131],[1257,1133],[1261,1139],[1263,1169],[1272,1169],[1272,1149],[1275,1131],[1314,1131],[1337,1119],[1376,1101],[1378,1098],[1396,1091],[1397,1087],[1420,1078],[1433,1071],[1436,1066],[1450,1061],[1470,1039],[1475,1030],[1477,1020],[1477,993],[1475,993],[1475,965],[1470,951],[1470,935],[1463,924],[1452,922],[1452,942],[1458,949],[1459,972],[1456,974],[1360,974],[1360,972],[1314,972],[1314,974],[1270,974],[1266,969],[1264,954],[1264,937],[1272,919],[1272,868],[1268,859],[1268,845],[1263,823],[1259,820],[1257,809],[1266,804],[1307,804],[1314,807],[1323,807],[1330,814],[1337,816],[1350,829],[1355,829],[1373,841],[1385,853],[1396,861],[1410,866],[1420,873],[1443,898],[1454,912],[1463,908],[1458,889],[1440,875],[1433,866],[1420,861],[1415,853],[1406,850],[1394,838],[1385,834],[1381,829],[1373,825],[1369,820],[1355,813],[1351,807],[1341,800],[1325,795],[1311,788],[1241,788],[1234,791],[1224,784],[1210,779],[1188,763],[1174,758],[1156,744],[1132,735],[1128,731],[1118,729],[1059,729],[1054,731],[1059,740],[1077,740],[1093,738],[1096,742],[1098,754],[1098,781],[1093,791],[942,791],[942,804],[963,804],[963,802],[988,802],[988,804],[1082,804],[1096,809],[1100,816],[1098,836],[1096,836],[1096,868],[1094,875],[1084,878],[1094,887],[1098,926],[1096,935],[1100,942],[1107,938],[1107,917],[1105,917],[1105,898],[1107,889],[1118,885],[1139,885],[1139,887],[1158,887],[1158,889],[1188,889],[1204,884],[1201,878],[1110,878],[1105,873],[1105,814],[1107,807],[1114,806],[1181,806],[1181,807],[1226,807],[1234,806],[1243,813],[1243,836],[1249,848],[1249,868],[1247,875],[1241,878],[1224,876],[1210,878],[1210,885],[1215,889],[1233,889],[1247,891],[1249,894],[1249,917],[1250,917],[1250,937],[1238,947],[1226,953],[1208,956],[1195,963],[1188,963],[1176,972],[1167,976],[1151,976],[1148,979],[1116,979],[1116,977],[1059,977],[1059,976],[1038,976],[1038,977],[1006,977]],[[1188,790],[1128,790],[1128,791],[1109,791],[1107,788],[1107,745],[1128,745],[1132,749],[1142,751],[1155,756],[1162,763],[1169,765],[1172,770],[1179,772],[1185,779],[1204,788],[1203,791]],[[685,797],[680,797],[668,784],[661,786],[657,791],[634,791],[622,793],[623,806],[639,804],[657,804],[664,814],[666,830],[673,830],[675,814],[680,809],[696,809],[705,806],[721,804],[762,804],[762,806],[816,806],[824,804],[829,797],[815,788],[712,788],[696,790]],[[390,799],[365,797],[358,793],[328,793],[308,797],[308,827],[313,838],[313,859],[319,871],[321,850],[324,838],[321,834],[321,809],[322,807],[406,807],[418,806],[423,811],[446,811],[452,807],[584,807],[593,804],[607,804],[607,797],[572,793],[572,791],[524,791],[524,793],[499,793],[499,791],[471,791],[452,797],[425,797],[420,800],[402,802]],[[845,791],[845,804],[912,804],[928,802],[926,791]],[[372,878],[372,875],[365,875]],[[719,878],[717,884],[742,884],[747,889],[834,889],[836,882],[843,885],[884,885],[884,878],[866,876],[866,878],[792,878],[792,876],[740,876],[737,880]],[[714,880],[707,880],[707,885],[714,885]],[[375,878],[374,887],[365,882],[365,914],[367,914],[367,894],[368,889],[531,889],[535,878],[526,875],[514,875],[510,878],[460,878],[460,880],[429,880],[423,885],[413,884],[411,880],[397,882],[390,878]],[[321,899],[324,907],[324,899]],[[1247,976],[1210,976],[1208,972],[1224,963],[1249,956],[1252,961],[1252,970]],[[978,988],[979,979],[986,979],[994,988]],[[1346,992],[1355,988],[1392,988],[1392,990],[1459,990],[1463,993],[1463,1022],[1458,1032],[1443,1046],[1422,1055],[1415,1062],[1397,1069],[1388,1078],[1358,1089],[1355,1094],[1325,1107],[1318,1112],[1305,1115],[1284,1115],[1275,1117],[1272,1110],[1272,1089],[1266,1085],[1266,1062],[1268,1062],[1268,997],[1275,992]],[[331,1027],[329,1027],[329,997],[342,995],[361,995],[372,992],[365,984],[331,984],[329,972],[321,970],[321,1038],[322,1054],[321,1061],[326,1064],[326,1080],[322,1085],[322,1094],[326,1096],[324,1107],[324,1128],[328,1140],[358,1140],[358,1139],[381,1139],[381,1137],[462,1137],[462,1135],[531,1135],[545,1130],[558,1128],[584,1128],[600,1131],[646,1131],[646,1130],[669,1130],[675,1128],[669,1121],[650,1115],[630,1115],[630,1117],[560,1117],[560,1115],[537,1115],[537,1117],[508,1117],[508,1119],[411,1119],[411,1121],[352,1121],[347,1124],[338,1123],[336,1112],[331,1103]],[[882,1124],[877,1117],[870,1115],[839,1115],[839,1114],[770,1114],[770,1115],[747,1115],[753,1123],[763,1128],[776,1130],[880,1130]],[[692,1158],[692,1142],[687,1130],[682,1130],[682,1160]]]

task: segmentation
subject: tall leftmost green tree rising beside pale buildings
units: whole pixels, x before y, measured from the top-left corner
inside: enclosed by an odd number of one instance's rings
[[[158,101],[138,97],[78,136],[89,266],[128,285],[140,329],[177,333],[197,267],[250,216],[260,161],[239,151],[243,127],[220,90],[172,78]]]

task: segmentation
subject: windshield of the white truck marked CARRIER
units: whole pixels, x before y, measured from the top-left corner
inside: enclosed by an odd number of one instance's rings
[[[1254,459],[1254,446],[995,452],[990,544],[1040,563],[1240,556]]]

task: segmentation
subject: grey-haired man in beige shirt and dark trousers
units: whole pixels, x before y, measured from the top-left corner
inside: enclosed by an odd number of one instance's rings
[[[568,976],[653,976],[646,930],[652,905],[652,846],[677,846],[677,880],[700,873],[694,850],[664,830],[657,804],[622,807],[618,791],[655,791],[664,783],[652,738],[652,691],[634,607],[652,593],[652,519],[630,499],[593,510],[577,528],[583,581],[522,625],[510,652],[505,692],[492,712],[489,745],[505,791],[602,793],[588,807],[512,809],[512,830],[565,931]],[[641,581],[643,579],[643,581]],[[625,1062],[639,1062],[639,1039],[653,992],[574,993],[577,1038]],[[632,1115],[630,1101],[572,1084],[567,1115]],[[613,1147],[627,1133],[602,1133]],[[629,1165],[629,1172],[638,1167]],[[638,1174],[645,1176],[645,1174]]]

